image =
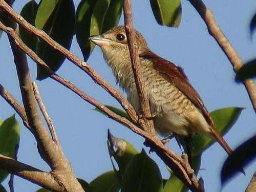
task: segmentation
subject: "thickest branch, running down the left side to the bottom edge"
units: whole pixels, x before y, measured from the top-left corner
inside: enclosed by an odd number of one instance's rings
[[[10,20],[8,16],[1,17],[1,20],[4,21],[6,25],[14,26],[16,29],[16,23],[13,20]],[[6,32],[10,29],[13,35],[18,36],[18,33],[12,28],[3,25],[2,22],[0,22],[0,28]],[[42,123],[34,97],[26,54],[17,46],[13,36],[8,32],[7,34],[14,55],[14,63],[17,70],[19,87],[22,92],[28,124],[37,141],[38,152],[53,170],[52,174],[55,180],[58,182],[58,185],[62,186],[61,191],[84,191],[74,176],[72,167],[63,155],[61,148],[51,139],[46,127]]]

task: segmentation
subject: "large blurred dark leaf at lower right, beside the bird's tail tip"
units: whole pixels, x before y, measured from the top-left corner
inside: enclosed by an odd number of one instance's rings
[[[226,184],[234,175],[241,172],[256,158],[256,135],[241,144],[228,156],[221,170],[221,183]]]

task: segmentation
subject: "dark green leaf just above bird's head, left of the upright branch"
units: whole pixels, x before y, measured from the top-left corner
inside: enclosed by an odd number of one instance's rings
[[[123,0],[111,0],[108,11],[106,11],[101,34],[117,26],[123,10]]]

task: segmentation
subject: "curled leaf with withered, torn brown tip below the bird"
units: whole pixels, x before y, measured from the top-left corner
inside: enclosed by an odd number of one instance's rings
[[[115,161],[118,164],[119,170],[117,171],[118,168],[115,167],[115,164],[111,159],[114,170],[116,171],[117,175],[120,176],[121,180],[127,166],[130,164],[133,157],[139,152],[130,142],[114,137],[110,133],[110,130],[108,130],[108,149],[110,157],[114,156]]]

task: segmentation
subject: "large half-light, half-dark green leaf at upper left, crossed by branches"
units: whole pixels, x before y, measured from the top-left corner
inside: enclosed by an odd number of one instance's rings
[[[42,0],[36,14],[35,25],[61,46],[70,49],[75,28],[74,2],[72,0]],[[53,71],[57,71],[65,60],[61,53],[41,39],[37,41],[36,53]],[[37,65],[37,79],[42,80],[46,77],[48,77],[47,73],[40,65]]]

